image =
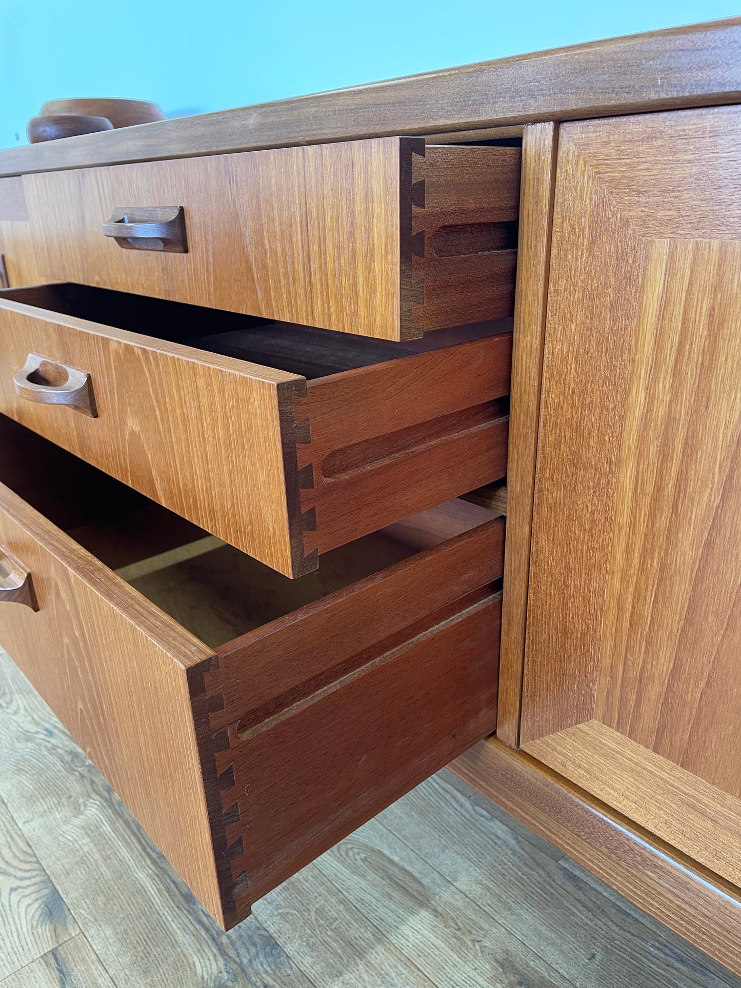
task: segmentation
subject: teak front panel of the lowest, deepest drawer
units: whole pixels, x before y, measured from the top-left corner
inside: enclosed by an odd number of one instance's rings
[[[185,672],[209,649],[4,485],[0,541],[40,604],[3,610],[3,644],[219,915]]]

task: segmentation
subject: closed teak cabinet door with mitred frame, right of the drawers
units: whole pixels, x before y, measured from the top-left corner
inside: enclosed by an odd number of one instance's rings
[[[741,108],[561,128],[522,746],[741,884]]]

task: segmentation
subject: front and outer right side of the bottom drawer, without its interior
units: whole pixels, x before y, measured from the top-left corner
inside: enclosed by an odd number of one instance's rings
[[[0,640],[225,927],[495,729],[504,524],[452,505],[211,650],[0,484]]]

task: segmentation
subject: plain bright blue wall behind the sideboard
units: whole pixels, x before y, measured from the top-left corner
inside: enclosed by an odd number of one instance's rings
[[[0,0],[0,147],[45,100],[168,117],[738,13],[729,0]]]

